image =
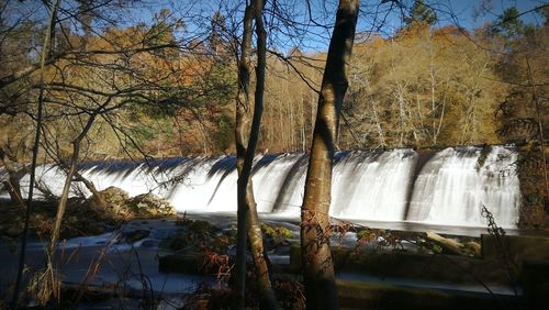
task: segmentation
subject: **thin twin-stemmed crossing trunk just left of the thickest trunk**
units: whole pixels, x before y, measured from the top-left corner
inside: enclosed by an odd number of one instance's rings
[[[254,258],[256,280],[259,288],[260,305],[264,309],[277,309],[277,300],[269,279],[269,270],[264,256],[264,241],[257,204],[254,198],[251,184],[251,164],[259,137],[264,107],[264,85],[266,67],[266,33],[262,22],[264,1],[253,1],[246,7],[244,15],[244,34],[238,64],[238,98],[236,100],[236,167],[238,169],[238,230],[236,255],[236,309],[244,308],[245,278],[246,278],[246,245],[250,243]],[[256,68],[255,107],[249,104],[250,54],[251,54],[251,22],[256,20],[258,64]],[[251,117],[253,115],[253,117]],[[246,237],[247,236],[247,237]]]

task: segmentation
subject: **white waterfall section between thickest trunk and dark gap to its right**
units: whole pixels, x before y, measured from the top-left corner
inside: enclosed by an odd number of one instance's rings
[[[412,150],[352,152],[334,167],[330,214],[401,221],[417,154]]]

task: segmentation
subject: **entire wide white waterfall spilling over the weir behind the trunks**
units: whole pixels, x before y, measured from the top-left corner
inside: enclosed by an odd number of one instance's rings
[[[419,155],[410,148],[337,153],[330,215],[485,226],[481,215],[485,206],[500,225],[515,226],[520,193],[512,165],[517,154],[512,147],[448,147],[427,156],[423,166]],[[253,181],[259,212],[299,217],[307,159],[303,154],[256,157]],[[37,173],[59,193],[63,173],[53,165],[41,166]],[[154,192],[180,212],[236,210],[234,156],[155,159],[148,165],[86,163],[81,173],[99,189],[115,186],[130,196]],[[22,186],[27,181],[23,179]],[[78,184],[74,190],[87,192]]]

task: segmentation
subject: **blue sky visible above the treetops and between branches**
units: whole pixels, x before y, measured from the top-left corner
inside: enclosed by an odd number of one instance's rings
[[[290,51],[294,46],[302,46],[302,49],[324,51],[327,48],[329,37],[332,35],[333,22],[337,8],[337,0],[309,0],[311,5],[311,14],[315,22],[326,24],[326,27],[315,26],[311,23],[307,5],[305,0],[268,0],[269,5],[277,3],[282,11],[288,12],[292,20],[298,20],[302,24],[307,24],[306,33],[291,29],[284,29],[283,23],[278,23],[276,19],[271,20],[274,24],[273,29],[278,33],[271,35],[271,46],[277,46],[279,51]],[[414,0],[400,1],[383,1],[383,0],[361,0],[358,31],[370,31],[378,33],[384,37],[390,37],[402,26],[402,15],[414,3]],[[399,8],[395,2],[403,3]],[[529,11],[536,7],[548,4],[549,1],[541,0],[425,0],[437,12],[438,22],[436,26],[448,24],[459,25],[461,27],[472,30],[486,22],[494,21],[506,8],[517,7],[519,12]],[[42,19],[46,14],[44,7],[40,1],[10,1],[13,9],[5,13],[14,13],[15,11],[34,12],[32,15]],[[34,3],[34,5],[32,5]],[[75,0],[64,0],[61,2],[65,8],[70,9],[76,7]],[[128,2],[133,3],[133,2]],[[242,10],[244,0],[142,0],[135,2],[136,8],[126,8],[123,16],[112,16],[119,20],[121,24],[135,24],[139,21],[150,23],[154,20],[154,14],[164,8],[169,8],[173,18],[182,18],[188,24],[189,32],[204,33],[208,31],[208,18],[213,15],[216,10],[224,11],[238,7],[236,10],[234,22],[242,22]],[[120,14],[120,12],[117,12]],[[114,13],[116,14],[116,13]],[[13,18],[15,18],[14,14]],[[201,19],[195,18],[200,15]],[[266,13],[266,22],[269,22],[269,14]],[[122,22],[122,20],[127,20]],[[539,14],[530,12],[524,14],[522,20],[526,23],[541,24],[544,21]],[[184,35],[184,34],[183,34]],[[200,35],[200,34],[199,34]]]

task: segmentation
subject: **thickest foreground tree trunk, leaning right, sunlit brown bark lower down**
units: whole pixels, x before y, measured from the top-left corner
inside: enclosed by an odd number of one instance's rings
[[[307,309],[338,309],[329,252],[329,203],[334,142],[347,91],[358,0],[340,0],[318,98],[301,213],[301,253]]]

